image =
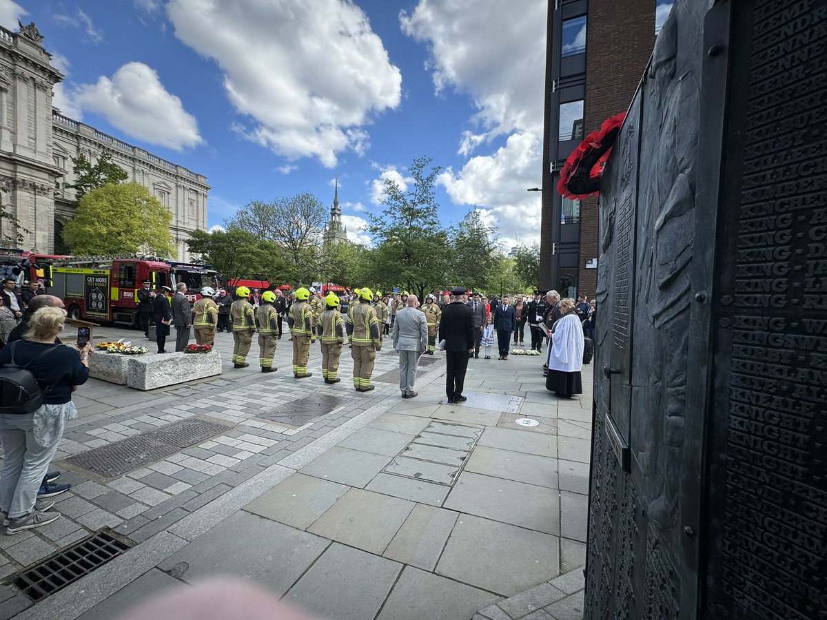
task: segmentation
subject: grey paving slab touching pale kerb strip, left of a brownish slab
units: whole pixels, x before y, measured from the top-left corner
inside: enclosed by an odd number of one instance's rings
[[[350,489],[345,484],[293,474],[244,509],[305,530]]]

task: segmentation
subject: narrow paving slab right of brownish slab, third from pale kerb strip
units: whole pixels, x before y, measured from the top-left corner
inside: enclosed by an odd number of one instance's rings
[[[433,571],[458,516],[452,510],[416,504],[382,555]]]

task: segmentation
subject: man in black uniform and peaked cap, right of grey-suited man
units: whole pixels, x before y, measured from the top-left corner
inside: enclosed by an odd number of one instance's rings
[[[474,318],[471,306],[462,302],[466,289],[452,289],[452,303],[442,307],[439,319],[439,341],[445,341],[445,393],[448,403],[464,403],[462,395],[468,358],[474,352]]]

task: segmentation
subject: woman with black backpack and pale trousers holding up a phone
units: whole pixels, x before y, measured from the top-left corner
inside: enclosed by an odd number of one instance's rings
[[[40,527],[60,517],[60,513],[48,510],[54,502],[36,503],[37,491],[63,436],[65,421],[78,416],[72,392],[88,379],[91,348],[89,343],[77,349],[55,344],[65,318],[62,308],[41,308],[31,315],[25,340],[12,342],[0,351],[0,366],[5,367],[0,374],[23,384],[26,377],[22,375],[28,371],[40,387],[40,393],[30,391],[23,398],[12,398],[8,389],[12,381],[0,384],[0,510],[7,534]],[[42,403],[32,411],[40,398]],[[26,410],[31,413],[21,413]]]

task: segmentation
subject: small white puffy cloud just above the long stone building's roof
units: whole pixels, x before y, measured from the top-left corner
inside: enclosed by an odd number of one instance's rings
[[[195,117],[167,92],[155,70],[143,63],[124,64],[111,79],[102,75],[98,83],[79,86],[72,100],[141,141],[174,150],[203,143]]]

